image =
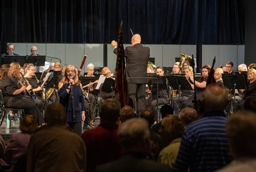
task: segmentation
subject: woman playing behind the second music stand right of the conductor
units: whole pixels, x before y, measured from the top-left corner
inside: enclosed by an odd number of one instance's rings
[[[191,66],[186,66],[184,69],[184,73],[186,76],[186,79],[188,80],[188,82],[192,82],[190,80],[190,76],[193,75],[193,68]],[[188,100],[192,95],[193,95],[194,91],[193,90],[181,90],[181,94],[180,97],[174,97],[172,98],[173,101],[173,110],[174,110],[174,114],[175,115],[179,115],[179,110],[181,108],[183,108],[181,105],[179,106],[179,102],[180,104],[182,104],[182,102],[185,102],[186,100]]]

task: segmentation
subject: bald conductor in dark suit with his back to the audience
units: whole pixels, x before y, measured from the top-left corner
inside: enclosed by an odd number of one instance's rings
[[[127,88],[129,98],[134,103],[137,100],[137,109],[140,113],[146,107],[146,78],[147,77],[147,64],[149,61],[149,47],[144,47],[140,44],[141,37],[139,34],[132,36],[132,46],[127,46],[124,50],[126,57],[126,79],[138,78],[127,80]],[[117,54],[117,42],[113,40],[111,45],[115,48],[114,53]]]

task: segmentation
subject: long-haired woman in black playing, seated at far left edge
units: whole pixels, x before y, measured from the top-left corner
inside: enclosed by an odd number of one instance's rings
[[[12,76],[13,75],[13,76]],[[15,77],[15,78],[14,78]],[[23,91],[31,89],[31,85],[25,86],[21,83],[19,71],[13,71],[9,64],[0,68],[0,89],[3,91],[5,106],[9,108],[21,108],[26,114],[34,115],[39,125],[44,123],[42,113],[36,107],[35,102],[23,96]]]

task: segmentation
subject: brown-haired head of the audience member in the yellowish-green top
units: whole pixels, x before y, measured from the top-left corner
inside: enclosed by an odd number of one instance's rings
[[[166,143],[182,136],[184,125],[177,115],[167,115],[161,122],[159,133]]]

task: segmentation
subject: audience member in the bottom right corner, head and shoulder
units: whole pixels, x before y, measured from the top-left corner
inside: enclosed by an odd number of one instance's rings
[[[256,171],[256,114],[239,111],[231,115],[226,132],[234,160],[218,171]]]

